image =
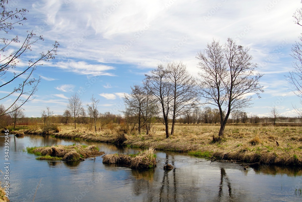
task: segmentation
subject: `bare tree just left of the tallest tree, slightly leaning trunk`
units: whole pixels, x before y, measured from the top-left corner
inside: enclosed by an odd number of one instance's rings
[[[197,102],[197,91],[195,90],[195,79],[187,71],[187,66],[180,62],[169,62],[166,65],[167,80],[171,85],[172,102],[172,127],[171,135],[174,133],[176,118],[191,111]]]

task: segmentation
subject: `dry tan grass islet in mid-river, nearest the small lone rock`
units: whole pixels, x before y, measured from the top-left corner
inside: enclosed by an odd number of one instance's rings
[[[103,157],[103,164],[129,165],[131,168],[156,167],[155,150],[149,148],[137,155],[107,154]]]

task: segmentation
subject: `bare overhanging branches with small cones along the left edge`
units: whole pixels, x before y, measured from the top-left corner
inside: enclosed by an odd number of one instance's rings
[[[26,53],[32,51],[35,43],[43,41],[43,37],[36,36],[33,31],[27,31],[27,36],[23,41],[19,41],[18,36],[11,39],[5,38],[5,34],[8,37],[10,36],[8,32],[14,29],[14,25],[22,25],[23,21],[27,20],[24,17],[27,12],[26,9],[7,10],[7,3],[8,1],[5,0],[0,1],[0,7],[2,8],[0,13],[0,33],[2,33],[0,51],[3,53],[0,58],[0,81],[2,82],[0,89],[5,88],[7,92],[3,97],[0,97],[0,101],[11,99],[11,102],[0,116],[11,113],[11,109],[17,101],[22,103],[18,105],[21,108],[27,101],[34,99],[40,78],[33,78],[33,72],[38,65],[42,65],[43,61],[54,58],[59,45],[55,41],[52,49],[41,52],[34,59],[28,59],[29,55]],[[28,61],[28,64],[23,65],[21,61]],[[20,70],[17,70],[17,67]],[[14,72],[14,74],[11,74],[11,72]],[[17,110],[18,108],[14,109]]]

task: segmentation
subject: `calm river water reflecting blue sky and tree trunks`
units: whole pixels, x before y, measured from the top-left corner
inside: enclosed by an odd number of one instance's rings
[[[1,134],[2,171],[5,170],[4,140],[4,134]],[[34,199],[36,202],[302,201],[298,190],[302,188],[302,168],[262,166],[258,170],[244,170],[235,163],[210,163],[203,158],[196,158],[197,161],[186,154],[156,151],[158,166],[137,171],[129,167],[104,165],[102,157],[67,163],[36,160],[37,156],[23,151],[26,147],[74,143],[96,144],[105,153],[134,154],[141,151],[104,143],[50,136],[15,137],[10,134],[9,199]],[[164,171],[166,162],[173,164],[175,169]],[[3,180],[2,176],[2,183]]]

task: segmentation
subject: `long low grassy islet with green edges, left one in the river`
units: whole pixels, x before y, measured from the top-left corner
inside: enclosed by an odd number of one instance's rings
[[[38,160],[62,160],[79,161],[90,156],[100,156],[104,152],[98,150],[95,145],[57,145],[51,147],[27,147],[27,153],[35,154]]]

